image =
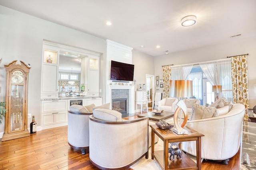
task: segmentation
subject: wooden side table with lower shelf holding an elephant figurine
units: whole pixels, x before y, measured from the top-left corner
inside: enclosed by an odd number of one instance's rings
[[[151,158],[156,159],[158,164],[163,170],[201,170],[201,137],[204,136],[193,129],[184,127],[188,130],[187,135],[178,135],[172,131],[172,129],[162,130],[156,125],[150,125],[151,127]],[[162,141],[164,141],[164,150],[154,151],[154,137],[158,135]],[[196,163],[191,160],[186,154],[182,154],[182,160],[176,158],[174,161],[168,158],[168,144],[172,142],[185,142],[196,141]]]

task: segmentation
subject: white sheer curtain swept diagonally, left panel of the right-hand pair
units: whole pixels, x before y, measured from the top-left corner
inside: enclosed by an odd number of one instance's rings
[[[218,75],[216,61],[199,64],[209,82],[212,85],[220,85],[220,76]]]

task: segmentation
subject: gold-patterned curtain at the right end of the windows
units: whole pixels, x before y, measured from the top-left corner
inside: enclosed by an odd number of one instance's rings
[[[244,120],[248,121],[247,109],[249,108],[249,97],[247,55],[231,57],[231,71],[234,103],[240,103],[245,106]]]

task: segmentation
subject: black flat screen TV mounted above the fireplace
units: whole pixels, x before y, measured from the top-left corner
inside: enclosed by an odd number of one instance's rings
[[[134,65],[111,61],[110,80],[133,81]]]

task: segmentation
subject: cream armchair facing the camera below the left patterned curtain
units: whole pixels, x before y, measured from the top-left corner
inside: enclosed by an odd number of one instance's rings
[[[158,102],[158,110],[175,111],[177,98],[164,98]]]

